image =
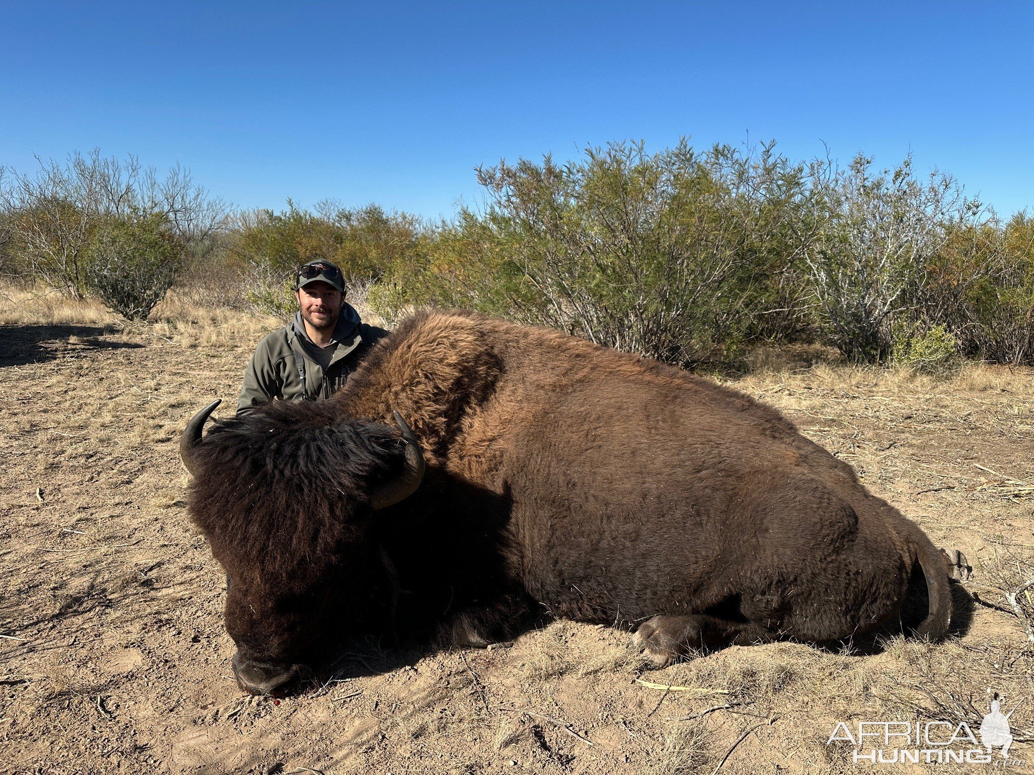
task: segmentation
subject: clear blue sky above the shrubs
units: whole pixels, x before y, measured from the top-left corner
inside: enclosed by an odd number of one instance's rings
[[[1034,211],[1034,3],[0,5],[0,164],[99,147],[242,207],[428,217],[477,164],[774,138]]]

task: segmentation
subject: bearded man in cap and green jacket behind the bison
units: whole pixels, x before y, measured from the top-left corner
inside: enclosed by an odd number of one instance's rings
[[[345,383],[374,342],[388,334],[367,326],[344,301],[341,270],[309,261],[295,275],[298,312],[258,343],[244,372],[237,413],[274,398],[330,398]]]

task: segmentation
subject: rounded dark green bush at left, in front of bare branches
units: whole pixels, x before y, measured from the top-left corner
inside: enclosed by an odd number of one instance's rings
[[[160,215],[111,218],[90,243],[85,281],[109,309],[143,320],[175,282],[183,252],[183,242]]]

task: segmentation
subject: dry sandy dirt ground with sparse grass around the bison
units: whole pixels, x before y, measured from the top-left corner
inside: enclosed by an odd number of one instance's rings
[[[274,701],[231,675],[224,581],[176,456],[272,322],[52,312],[0,318],[0,773],[833,773],[856,767],[827,745],[840,721],[976,731],[996,692],[1021,703],[1009,769],[1034,771],[1034,606],[1021,593],[1017,617],[1003,594],[1034,578],[1030,370],[759,358],[735,380],[968,555],[945,643],[737,647],[650,671],[626,633],[557,621],[480,651],[359,649]]]

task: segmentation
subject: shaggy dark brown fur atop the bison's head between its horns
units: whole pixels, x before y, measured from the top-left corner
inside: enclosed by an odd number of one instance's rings
[[[190,510],[223,563],[295,568],[337,559],[366,494],[398,475],[398,431],[326,402],[273,401],[217,424],[197,450]],[[227,568],[229,570],[230,568]]]

